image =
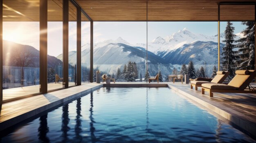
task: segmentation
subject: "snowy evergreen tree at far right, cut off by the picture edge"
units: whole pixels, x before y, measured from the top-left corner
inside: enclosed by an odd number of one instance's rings
[[[252,21],[242,22],[243,25],[246,25],[241,33],[244,37],[240,38],[236,42],[239,42],[238,52],[240,59],[237,61],[237,64],[240,64],[237,69],[240,70],[254,70],[254,49],[255,49],[255,23]]]

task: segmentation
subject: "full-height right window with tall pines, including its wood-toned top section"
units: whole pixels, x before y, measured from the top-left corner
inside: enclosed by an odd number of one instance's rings
[[[227,80],[236,70],[255,69],[254,11],[254,4],[220,5],[220,69],[230,72]]]

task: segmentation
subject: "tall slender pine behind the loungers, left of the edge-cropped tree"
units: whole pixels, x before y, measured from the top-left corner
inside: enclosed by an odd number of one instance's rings
[[[235,75],[235,62],[239,58],[237,55],[237,51],[233,51],[235,48],[234,43],[234,37],[236,36],[234,34],[234,27],[231,22],[227,22],[226,30],[224,32],[225,34],[225,40],[222,42],[225,42],[226,45],[222,48],[222,68],[223,70],[227,70],[230,72],[228,79],[232,79]]]

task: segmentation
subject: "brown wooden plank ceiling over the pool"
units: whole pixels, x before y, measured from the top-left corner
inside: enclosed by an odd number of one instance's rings
[[[244,0],[225,0],[243,2]],[[48,21],[62,21],[63,0],[48,0]],[[147,0],[76,0],[93,21],[146,21]],[[221,0],[148,0],[148,21],[218,21]],[[256,0],[247,0],[256,2]],[[71,2],[70,2],[71,4]],[[92,9],[91,9],[92,7]],[[202,9],[204,7],[204,9]],[[70,21],[76,9],[70,6]],[[254,5],[221,5],[220,20],[254,20]],[[83,21],[88,21],[85,17]],[[39,0],[3,0],[3,21],[39,21]]]

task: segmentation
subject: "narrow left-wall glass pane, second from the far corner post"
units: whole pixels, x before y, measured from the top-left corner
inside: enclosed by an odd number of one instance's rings
[[[68,81],[69,86],[76,85],[76,7],[68,4]]]

